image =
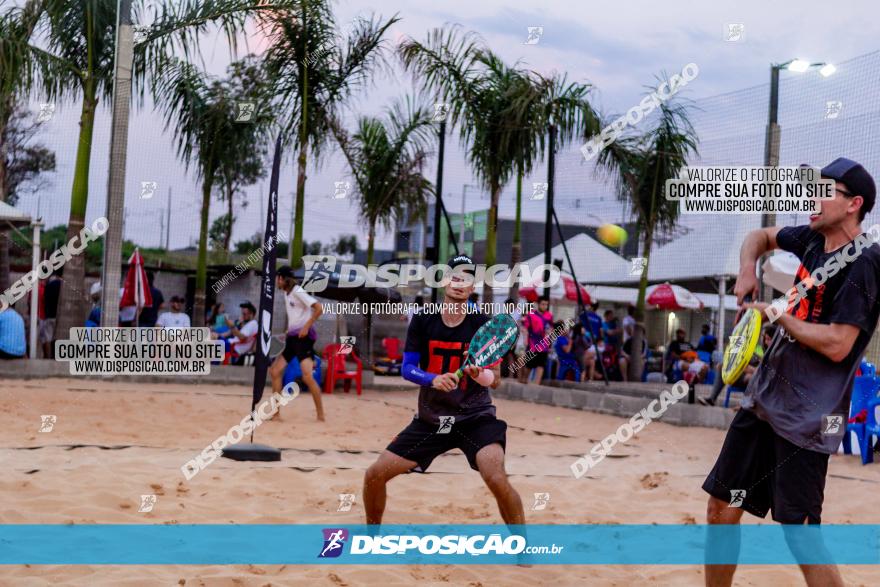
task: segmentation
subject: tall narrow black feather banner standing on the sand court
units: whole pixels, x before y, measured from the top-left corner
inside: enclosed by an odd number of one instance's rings
[[[266,232],[263,234],[263,283],[260,287],[260,325],[257,353],[254,360],[254,397],[251,411],[257,407],[266,387],[269,369],[269,348],[272,344],[272,308],[275,303],[275,257],[278,234],[278,173],[281,167],[281,137],[275,140],[275,159],[269,181],[269,206],[266,210]]]

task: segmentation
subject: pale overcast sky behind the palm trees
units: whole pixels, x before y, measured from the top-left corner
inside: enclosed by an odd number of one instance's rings
[[[340,22],[356,15],[373,12],[389,17],[398,14],[401,21],[390,32],[396,45],[405,36],[423,39],[426,32],[447,23],[461,24],[478,33],[486,44],[508,62],[542,73],[564,71],[569,80],[589,82],[595,87],[594,104],[601,112],[623,112],[634,106],[648,85],[656,85],[655,76],[665,71],[681,71],[687,63],[699,66],[699,77],[685,90],[688,98],[699,99],[767,83],[769,64],[793,57],[812,61],[840,62],[877,50],[876,3],[847,2],[841,5],[815,0],[771,3],[766,0],[738,2],[663,3],[629,1],[617,3],[567,2],[544,0],[522,2],[448,0],[444,3],[391,0],[373,2],[340,1],[334,4]],[[613,8],[613,10],[612,10]],[[742,24],[739,41],[725,39],[729,24]],[[537,44],[525,44],[529,27],[543,27]],[[229,58],[225,44],[209,40],[205,53],[210,68],[222,72]],[[783,75],[793,75],[783,73]],[[413,93],[416,86],[409,75],[397,71],[388,78],[377,78],[351,104],[347,119],[362,114],[380,113],[393,100]],[[32,108],[39,110],[39,100]],[[49,226],[66,223],[72,181],[79,119],[79,104],[60,104],[54,118],[46,125],[43,140],[56,150],[58,171],[51,186],[39,197],[22,198],[20,207],[39,211]],[[93,142],[88,218],[103,215],[109,150],[109,113],[98,116]],[[127,169],[125,236],[146,246],[160,242],[160,222],[167,211],[168,190],[172,190],[171,246],[187,246],[198,237],[199,189],[192,173],[187,173],[175,157],[170,135],[163,132],[163,120],[150,105],[137,110],[131,121]],[[488,207],[480,189],[470,176],[459,149],[457,136],[447,140],[447,166],[444,174],[444,198],[452,211],[462,206],[466,188],[466,208]],[[576,150],[577,145],[568,147]],[[346,180],[341,158],[332,149],[319,169],[310,169],[307,182],[307,240],[329,242],[332,237],[357,232],[365,245],[363,231],[357,225],[356,211],[347,200],[334,200],[334,181]],[[570,153],[569,153],[570,155]],[[285,153],[280,188],[280,228],[289,229],[292,192],[295,185],[294,154]],[[759,161],[755,161],[759,164]],[[426,175],[434,180],[434,162]],[[545,181],[543,167],[534,181]],[[151,198],[141,198],[141,182],[155,181],[158,191]],[[239,210],[233,240],[241,240],[261,229],[261,201],[265,204],[268,180],[247,190],[249,206]],[[501,205],[503,216],[512,215],[513,206],[505,192]],[[613,200],[610,199],[609,201]],[[614,218],[615,204],[597,210],[602,218]],[[222,203],[212,203],[212,219],[224,211]],[[527,203],[527,218],[541,218],[539,202]],[[160,218],[162,220],[160,220]],[[378,248],[390,248],[391,234],[382,234]]]

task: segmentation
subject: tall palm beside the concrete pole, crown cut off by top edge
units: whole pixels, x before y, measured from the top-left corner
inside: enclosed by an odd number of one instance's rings
[[[167,0],[151,10],[153,22],[144,29],[145,38],[134,50],[133,83],[143,96],[144,86],[158,79],[173,55],[187,57],[198,50],[199,41],[212,23],[235,48],[237,35],[245,30],[248,16],[259,11],[289,7],[294,0]],[[143,22],[151,0],[134,0],[136,22]],[[109,101],[113,92],[113,63],[116,48],[116,0],[42,0],[43,11],[37,30],[49,54],[62,60],[74,72],[65,86],[82,100],[79,142],[74,163],[67,239],[83,228],[89,194],[89,170],[95,112],[100,100]],[[78,324],[85,298],[85,262],[77,255],[67,262],[59,300],[59,336]]]

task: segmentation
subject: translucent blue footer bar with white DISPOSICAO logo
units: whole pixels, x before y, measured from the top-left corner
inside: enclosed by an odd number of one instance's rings
[[[880,525],[0,525],[0,564],[880,564]]]

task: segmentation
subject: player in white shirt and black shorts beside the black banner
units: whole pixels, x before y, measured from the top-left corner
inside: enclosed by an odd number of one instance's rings
[[[312,399],[315,401],[315,411],[318,420],[324,421],[324,406],[321,404],[321,388],[315,381],[313,370],[315,361],[315,339],[317,334],[312,326],[324,313],[321,303],[310,296],[301,285],[296,283],[293,277],[293,269],[284,265],[278,268],[275,274],[275,286],[284,292],[284,307],[287,309],[287,339],[284,341],[284,350],[275,357],[272,366],[269,367],[269,376],[272,378],[272,392],[280,394],[284,378],[284,370],[294,357],[299,361],[302,371],[302,380],[309,388]]]

